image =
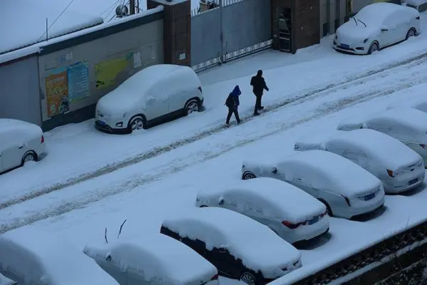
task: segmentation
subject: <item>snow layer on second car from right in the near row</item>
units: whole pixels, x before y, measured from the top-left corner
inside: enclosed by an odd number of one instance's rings
[[[339,131],[337,135],[325,142],[325,146],[328,147],[327,145],[332,143],[342,144],[343,142],[349,147],[358,147],[367,152],[369,156],[378,158],[391,170],[412,165],[421,159],[420,155],[404,145],[403,142],[376,130]]]

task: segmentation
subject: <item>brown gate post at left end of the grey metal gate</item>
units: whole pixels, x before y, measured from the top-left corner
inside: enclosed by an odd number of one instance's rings
[[[147,9],[164,6],[164,63],[191,66],[191,1],[147,0]]]

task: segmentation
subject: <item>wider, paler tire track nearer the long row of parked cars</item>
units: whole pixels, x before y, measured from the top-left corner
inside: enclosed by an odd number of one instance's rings
[[[336,113],[337,111],[343,110],[344,108],[349,108],[353,105],[357,105],[374,98],[383,97],[399,90],[408,89],[421,83],[427,83],[427,65],[423,70],[418,69],[412,73],[409,73],[406,78],[401,78],[399,81],[394,81],[394,83],[389,84],[389,87],[387,88],[383,88],[384,85],[381,85],[376,88],[371,88],[371,90],[366,92],[355,93],[353,95],[349,95],[348,97],[332,100],[330,103],[324,103],[320,105],[320,107],[317,107],[314,113],[310,112],[312,115],[308,115],[305,118],[300,118],[297,120],[288,120],[286,123],[279,123],[274,125],[272,128],[270,128],[270,130],[268,130],[268,132],[263,134],[258,135],[257,133],[251,132],[251,130],[247,130],[248,135],[241,136],[241,139],[237,139],[232,142],[224,142],[223,140],[218,142],[215,141],[214,145],[209,147],[209,150],[204,150],[202,152],[199,151],[192,155],[186,154],[184,157],[176,158],[175,160],[167,162],[165,165],[155,167],[149,172],[144,173],[144,175],[127,177],[125,182],[119,183],[117,185],[111,185],[110,187],[102,187],[102,189],[85,192],[83,193],[84,197],[79,197],[75,200],[63,202],[63,204],[58,204],[56,207],[34,211],[35,213],[29,213],[27,217],[11,218],[6,222],[6,224],[1,225],[0,234],[11,229],[16,229],[18,227],[32,224],[33,222],[37,222],[41,219],[55,217],[66,212],[70,212],[74,209],[81,209],[90,203],[98,202],[102,199],[119,194],[121,192],[130,192],[136,187],[161,180],[167,175],[184,170],[186,167],[212,160],[226,152],[236,149],[237,147],[243,147],[244,145],[262,140],[263,138],[268,138],[272,135],[282,133],[283,131],[290,128],[295,128],[297,125],[307,123],[310,120],[316,120],[326,115],[330,115],[331,113]],[[262,118],[263,115],[260,117]],[[267,118],[268,117],[269,116],[267,116]],[[16,207],[26,207],[26,203],[16,205]]]

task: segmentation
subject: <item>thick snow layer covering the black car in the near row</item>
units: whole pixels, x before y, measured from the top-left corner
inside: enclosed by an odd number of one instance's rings
[[[206,242],[207,249],[226,247],[247,267],[266,275],[290,269],[301,258],[295,247],[271,229],[228,209],[194,207],[164,219],[163,225],[183,237]]]

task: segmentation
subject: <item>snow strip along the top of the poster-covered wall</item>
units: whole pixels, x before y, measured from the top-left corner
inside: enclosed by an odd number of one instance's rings
[[[20,1],[23,1],[23,0],[20,0]],[[132,21],[132,20],[135,20],[135,19],[147,16],[147,15],[150,15],[150,14],[155,14],[155,13],[157,13],[159,11],[163,11],[163,6],[157,6],[154,9],[149,9],[149,10],[146,10],[146,11],[142,11],[141,13],[138,13],[138,14],[135,14],[135,15],[126,16],[126,17],[123,17],[121,19],[115,19],[114,21],[110,21],[110,22],[107,22],[107,23],[98,24],[97,26],[92,26],[90,28],[83,28],[83,29],[80,29],[80,31],[74,31],[73,33],[68,33],[66,35],[58,36],[56,38],[51,38],[51,36],[49,36],[49,40],[48,41],[41,41],[40,43],[34,43],[32,46],[28,46],[26,48],[20,48],[20,49],[18,49],[16,51],[10,51],[8,53],[3,53],[3,54],[1,54],[1,52],[0,52],[0,63],[5,63],[7,61],[12,61],[12,60],[14,60],[16,58],[21,58],[23,56],[28,56],[28,55],[30,55],[32,53],[38,53],[38,52],[41,51],[41,49],[43,49],[43,47],[50,46],[53,43],[59,43],[61,41],[65,41],[65,40],[68,40],[70,38],[75,38],[77,36],[83,36],[83,35],[88,34],[88,33],[93,33],[95,31],[100,31],[100,30],[102,30],[104,28],[108,28],[108,27],[111,27],[111,26],[116,26],[118,24],[122,24],[122,23],[125,23],[127,21]],[[46,21],[46,19],[45,19],[45,21]],[[46,23],[45,23],[45,25],[46,25]],[[46,31],[46,29],[45,29],[45,31]],[[0,33],[0,36],[1,36],[1,33]],[[46,37],[45,37],[45,39],[46,39]],[[0,44],[0,47],[1,47],[1,44]]]

